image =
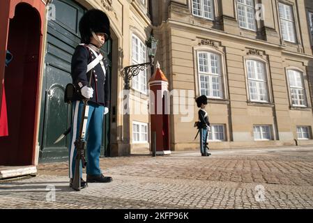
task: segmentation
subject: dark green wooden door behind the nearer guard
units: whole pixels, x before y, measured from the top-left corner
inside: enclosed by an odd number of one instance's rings
[[[80,43],[78,24],[86,11],[72,0],[54,0],[56,20],[48,22],[45,74],[40,113],[40,162],[68,160],[70,134],[58,144],[54,141],[70,127],[72,107],[64,103],[64,89],[72,82],[70,62]],[[104,48],[108,48],[110,43]],[[107,118],[107,117],[106,117]],[[107,148],[109,129],[104,128],[102,154]],[[105,146],[105,147],[104,147]]]

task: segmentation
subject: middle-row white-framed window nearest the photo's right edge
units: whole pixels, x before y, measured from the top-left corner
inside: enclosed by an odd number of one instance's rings
[[[295,72],[297,72],[299,75],[300,75],[300,83],[301,83],[301,86],[298,86],[298,85],[291,85],[291,79],[290,79],[290,75],[289,73],[290,72],[293,72],[293,75],[295,75]],[[288,69],[287,70],[287,79],[288,79],[288,86],[289,86],[289,98],[290,98],[290,101],[291,101],[291,106],[292,107],[307,107],[307,93],[306,93],[306,90],[305,90],[305,82],[304,82],[304,75],[303,75],[303,72],[300,71],[300,70],[294,70],[294,69]],[[296,79],[296,77],[295,77]],[[299,83],[299,80],[296,79],[296,83]],[[304,105],[300,105],[300,103],[297,103],[297,104],[293,104],[293,93],[292,93],[292,90],[296,90],[296,91],[303,91],[303,102],[304,102]],[[300,102],[300,94],[296,93],[296,99],[295,99],[297,102]]]

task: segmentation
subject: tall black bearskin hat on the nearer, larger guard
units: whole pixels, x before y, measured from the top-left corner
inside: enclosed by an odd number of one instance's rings
[[[90,43],[92,36],[91,31],[94,33],[105,33],[105,40],[109,38],[109,18],[102,10],[88,10],[79,21],[79,33],[82,38],[82,43]]]

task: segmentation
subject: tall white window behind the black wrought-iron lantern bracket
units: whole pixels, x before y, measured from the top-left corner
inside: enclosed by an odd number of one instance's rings
[[[132,34],[132,65],[146,63],[146,45],[138,36]],[[147,93],[147,71],[141,70],[132,77],[132,89],[141,93]]]

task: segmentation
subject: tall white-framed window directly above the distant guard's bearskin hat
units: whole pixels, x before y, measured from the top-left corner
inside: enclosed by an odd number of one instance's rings
[[[200,54],[205,54],[207,59],[207,64],[201,64],[200,63]],[[217,56],[217,61],[212,60],[211,56]],[[203,60],[204,61],[204,60]],[[217,99],[223,99],[224,98],[224,90],[223,90],[223,78],[224,75],[222,73],[222,55],[217,54],[215,52],[210,51],[198,51],[197,52],[197,63],[198,63],[198,76],[199,76],[199,94],[200,95],[206,95],[208,98],[217,98]],[[215,63],[217,67],[215,66],[213,68],[212,63]],[[207,66],[206,66],[207,65]],[[201,71],[201,67],[203,67],[204,70]],[[205,70],[206,69],[206,70]],[[215,70],[215,71],[213,71]],[[217,71],[217,72],[216,72]],[[203,78],[202,78],[203,77]],[[201,79],[206,79],[204,81],[204,84],[208,85],[208,89],[204,89],[201,87]],[[219,89],[213,89],[213,79],[219,79],[220,82],[215,82],[214,86],[218,86]],[[202,89],[204,91],[208,91],[207,93],[203,93]],[[214,92],[218,92],[220,96],[214,96]]]

